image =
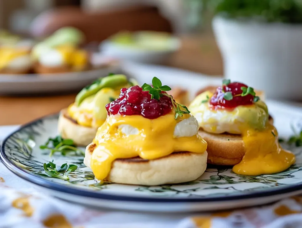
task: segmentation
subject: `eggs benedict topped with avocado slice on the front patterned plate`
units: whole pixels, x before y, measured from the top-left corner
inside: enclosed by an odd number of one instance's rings
[[[87,146],[107,117],[105,105],[119,96],[120,88],[131,85],[133,81],[128,81],[125,75],[115,74],[83,88],[75,102],[60,112],[58,129],[61,136],[72,139],[77,145]]]

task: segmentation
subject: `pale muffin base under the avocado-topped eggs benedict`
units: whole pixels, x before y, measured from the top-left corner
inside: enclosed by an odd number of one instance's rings
[[[79,125],[67,113],[67,108],[60,111],[58,130],[64,139],[72,139],[78,146],[87,146],[92,142],[98,128]]]

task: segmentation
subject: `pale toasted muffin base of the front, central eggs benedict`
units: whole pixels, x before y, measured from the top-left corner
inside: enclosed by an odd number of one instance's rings
[[[86,147],[84,164],[90,166],[96,144]],[[204,153],[175,152],[154,160],[140,157],[116,159],[106,181],[122,184],[154,186],[196,180],[207,167],[207,151]]]

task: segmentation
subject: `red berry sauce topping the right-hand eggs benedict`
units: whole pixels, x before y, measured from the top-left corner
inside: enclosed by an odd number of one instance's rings
[[[216,89],[216,93],[211,97],[210,104],[216,107],[225,107],[225,108],[235,108],[239,105],[251,105],[253,104],[254,96],[248,94],[246,96],[241,96],[242,90],[241,87],[248,87],[246,84],[239,82],[232,82],[228,85],[219,86]],[[223,98],[225,92],[231,92],[233,99],[227,101]],[[236,96],[237,95],[237,96]]]

